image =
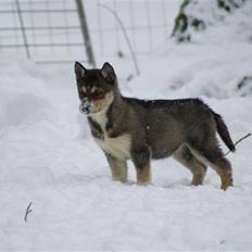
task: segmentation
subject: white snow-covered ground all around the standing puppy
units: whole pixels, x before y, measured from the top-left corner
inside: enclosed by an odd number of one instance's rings
[[[141,75],[129,83],[129,59],[98,61],[114,65],[125,96],[202,98],[238,140],[252,131],[252,84],[237,90],[252,75],[249,13],[250,1],[190,45],[167,41],[139,59]],[[225,192],[211,169],[190,186],[173,159],[152,162],[147,187],[130,163],[122,185],[78,113],[73,66],[1,54],[0,94],[0,250],[252,250],[252,138],[228,154],[235,186]]]

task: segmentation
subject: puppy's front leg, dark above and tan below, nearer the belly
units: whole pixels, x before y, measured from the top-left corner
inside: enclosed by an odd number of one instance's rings
[[[137,172],[137,184],[147,186],[151,182],[151,154],[149,148],[133,151],[131,156]]]

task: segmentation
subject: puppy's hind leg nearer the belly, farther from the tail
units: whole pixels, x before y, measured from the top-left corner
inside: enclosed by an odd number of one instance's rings
[[[191,153],[186,144],[179,147],[173,156],[192,173],[191,185],[199,186],[203,184],[207,167]]]

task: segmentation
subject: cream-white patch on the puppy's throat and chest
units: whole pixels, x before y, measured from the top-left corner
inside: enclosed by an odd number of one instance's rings
[[[109,137],[105,125],[106,125],[106,111],[101,111],[92,115],[94,119],[102,128],[104,133],[104,140],[93,138],[97,144],[106,153],[113,155],[116,159],[125,160],[130,158],[130,144],[131,139],[128,134],[122,135],[116,138]]]

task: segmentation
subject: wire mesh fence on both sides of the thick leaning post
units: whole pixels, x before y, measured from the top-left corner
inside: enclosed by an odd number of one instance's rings
[[[169,0],[171,1],[171,0]],[[136,55],[153,51],[169,36],[168,0],[83,0],[94,55],[127,54],[122,21]],[[0,51],[36,62],[87,60],[76,0],[0,2]]]

